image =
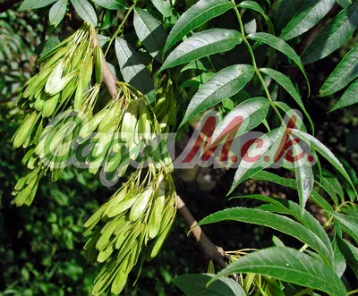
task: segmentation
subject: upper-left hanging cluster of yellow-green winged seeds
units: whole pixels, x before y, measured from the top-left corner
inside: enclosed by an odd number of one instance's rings
[[[94,29],[84,24],[40,57],[37,65],[43,63],[41,70],[21,93],[18,105],[27,115],[13,135],[13,146],[29,148],[22,163],[30,173],[19,180],[13,191],[18,206],[30,205],[38,182],[47,170],[53,181],[64,171],[64,160],[71,157],[72,140],[79,131],[78,120],[72,112],[92,115],[101,83],[97,80],[89,87],[93,68],[101,70],[95,37]],[[60,114],[59,117],[45,128],[56,114]]]

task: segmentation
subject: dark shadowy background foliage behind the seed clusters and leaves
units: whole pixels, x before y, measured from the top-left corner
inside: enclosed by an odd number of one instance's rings
[[[177,6],[184,9],[185,4],[191,2],[182,1]],[[14,100],[21,85],[30,77],[30,66],[36,58],[33,51],[45,37],[42,18],[47,15],[18,13],[17,7],[14,5],[12,10],[0,13],[0,295],[90,295],[99,268],[89,266],[83,257],[85,239],[81,227],[113,189],[103,187],[97,176],[68,169],[59,182],[41,182],[31,207],[17,208],[13,204],[11,192],[23,172],[23,151],[15,150],[11,144],[16,121],[21,118]],[[212,26],[227,28],[230,24],[236,26],[234,16],[226,15],[225,20],[219,18]],[[130,31],[131,25],[126,30]],[[358,106],[328,113],[338,96],[316,98],[315,94],[356,41],[354,37],[339,51],[306,67],[312,96],[304,98],[315,123],[316,137],[355,170],[358,168]],[[226,55],[231,63],[238,56],[237,51],[240,47]],[[217,58],[215,63],[225,63],[225,60]],[[294,77],[299,86],[305,85],[296,72],[287,74]],[[185,137],[179,146],[184,145],[184,141]],[[250,200],[230,201],[226,198],[233,176],[234,171],[230,170],[194,168],[176,172],[175,182],[178,193],[199,220],[226,207],[252,205]],[[235,191],[237,194],[260,192],[291,199],[296,196],[292,190],[266,182],[244,182]],[[309,205],[308,208],[318,219],[323,218],[316,207]],[[282,237],[277,232],[250,224],[212,224],[204,229],[210,240],[226,250],[261,249],[272,244],[273,235]],[[181,295],[183,293],[171,283],[173,277],[205,272],[208,262],[187,237],[187,231],[187,226],[177,217],[163,250],[144,266],[137,285],[127,287],[124,295]],[[288,246],[299,247],[288,237],[285,242]],[[347,276],[351,286],[355,287],[355,278],[351,274],[348,272]]]

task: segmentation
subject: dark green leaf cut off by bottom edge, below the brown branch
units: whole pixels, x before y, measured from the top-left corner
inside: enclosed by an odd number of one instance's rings
[[[215,275],[181,275],[175,277],[175,283],[188,296],[246,296],[242,286],[231,278],[221,278],[207,287]]]

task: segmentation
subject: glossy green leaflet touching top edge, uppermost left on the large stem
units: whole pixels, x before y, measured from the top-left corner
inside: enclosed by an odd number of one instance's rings
[[[200,0],[192,5],[170,31],[164,53],[192,30],[232,8],[234,4],[227,0]]]

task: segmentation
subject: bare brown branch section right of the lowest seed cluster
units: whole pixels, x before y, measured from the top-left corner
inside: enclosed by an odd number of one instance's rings
[[[178,195],[176,196],[176,199],[178,201],[178,214],[182,216],[185,223],[188,224],[189,228],[192,230],[192,236],[198,243],[198,246],[205,257],[213,260],[220,268],[225,268],[227,263],[224,259],[226,257],[224,249],[214,245],[202,231],[200,226],[193,228],[198,223],[195,221],[188,207],[185,206],[183,199]]]

